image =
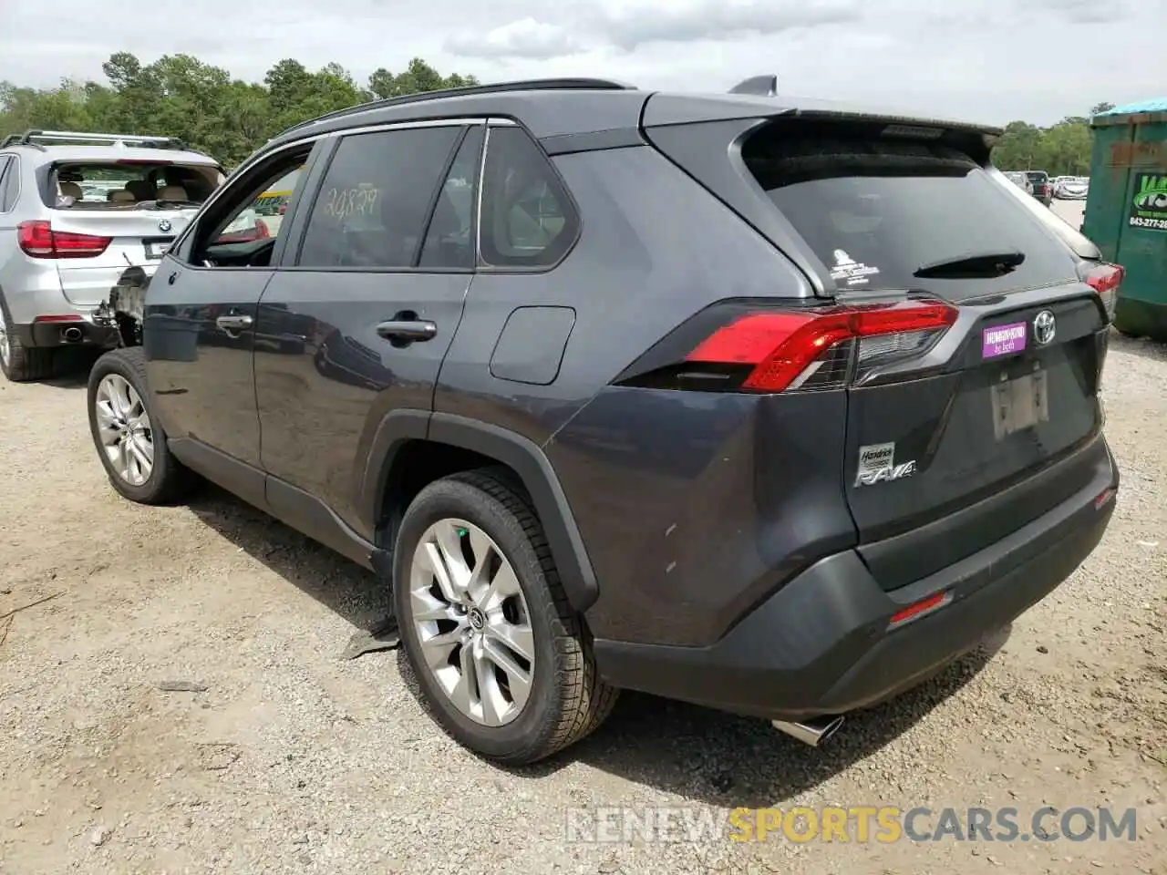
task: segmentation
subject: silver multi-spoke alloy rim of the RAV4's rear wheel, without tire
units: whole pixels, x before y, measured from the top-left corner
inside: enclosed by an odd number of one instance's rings
[[[418,542],[410,621],[421,657],[463,715],[488,727],[522,713],[534,679],[534,637],[510,561],[482,528],[441,519]]]

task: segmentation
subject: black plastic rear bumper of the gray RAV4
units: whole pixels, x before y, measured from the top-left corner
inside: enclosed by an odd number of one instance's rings
[[[1102,438],[1098,439],[1099,441]],[[798,720],[883,701],[969,652],[1064,581],[1093,551],[1118,488],[1109,450],[1071,498],[992,546],[893,592],[854,551],[830,555],[706,648],[598,639],[610,684],[738,714]],[[944,607],[889,629],[909,604]]]

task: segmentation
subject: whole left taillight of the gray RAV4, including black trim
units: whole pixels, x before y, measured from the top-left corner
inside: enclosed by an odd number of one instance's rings
[[[858,369],[930,349],[956,322],[957,310],[938,301],[904,300],[816,309],[736,308],[726,315],[687,352],[678,349],[677,360],[654,348],[617,383],[739,392],[839,388]],[[683,328],[662,344],[676,348],[686,336],[691,332]]]

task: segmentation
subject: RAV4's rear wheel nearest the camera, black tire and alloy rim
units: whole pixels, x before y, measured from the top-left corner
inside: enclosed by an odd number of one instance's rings
[[[414,498],[393,551],[406,657],[438,723],[505,765],[591,734],[617,691],[599,677],[543,527],[504,477],[468,471]]]

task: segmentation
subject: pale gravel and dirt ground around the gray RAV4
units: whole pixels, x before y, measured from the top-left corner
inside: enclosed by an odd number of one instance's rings
[[[1167,350],[1114,338],[1105,540],[1008,635],[815,750],[626,695],[538,768],[424,715],[399,653],[341,654],[371,575],[208,489],[109,488],[79,378],[0,382],[0,873],[1167,875]],[[168,681],[205,687],[166,691]],[[177,684],[182,686],[182,684]],[[568,842],[568,808],[1138,808],[1137,842]]]

